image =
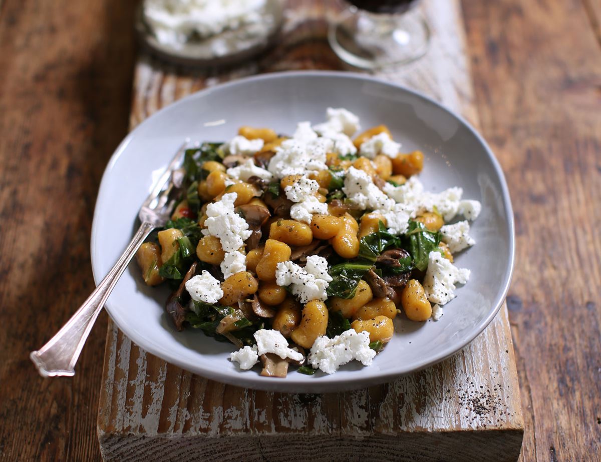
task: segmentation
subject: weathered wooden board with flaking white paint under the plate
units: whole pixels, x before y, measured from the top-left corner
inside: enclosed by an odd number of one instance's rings
[[[326,41],[341,5],[290,0],[279,44],[230,70],[191,71],[141,55],[132,128],[193,91],[255,73],[341,69]],[[378,75],[478,125],[457,0],[421,5],[426,58]],[[98,415],[107,461],[514,461],[523,419],[507,308],[450,359],[391,383],[338,394],[280,394],[206,380],[133,344],[109,322]]]

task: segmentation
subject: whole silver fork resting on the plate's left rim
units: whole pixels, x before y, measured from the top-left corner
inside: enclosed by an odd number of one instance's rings
[[[117,263],[115,263],[115,266],[111,268],[90,297],[79,307],[78,311],[67,321],[67,324],[46,345],[29,354],[42,377],[72,376],[75,374],[73,369],[75,363],[100,310],[105,305],[106,299],[108,299],[115,284],[117,284],[123,271],[148,234],[154,228],[165,225],[169,220],[174,205],[174,201],[169,201],[169,193],[171,193],[174,186],[172,174],[181,163],[186,145],[188,145],[188,140],[178,149],[165,173],[157,181],[150,195],[142,204],[138,214],[142,224],[119,260],[117,260]]]

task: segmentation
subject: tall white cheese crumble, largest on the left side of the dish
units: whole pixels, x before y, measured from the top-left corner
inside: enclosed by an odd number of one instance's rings
[[[204,236],[216,236],[221,240],[221,248],[225,252],[237,251],[248,239],[252,231],[248,223],[234,211],[237,193],[224,194],[220,201],[207,205],[207,219],[203,229]]]

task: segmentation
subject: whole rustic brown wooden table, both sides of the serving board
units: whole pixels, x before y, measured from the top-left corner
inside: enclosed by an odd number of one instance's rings
[[[464,1],[480,127],[511,190],[508,297],[522,460],[594,460],[601,442],[601,7]],[[88,243],[103,168],[128,127],[133,5],[0,0],[0,458],[99,460],[106,315],[74,378],[28,352],[93,288]],[[323,41],[301,67],[335,58]]]

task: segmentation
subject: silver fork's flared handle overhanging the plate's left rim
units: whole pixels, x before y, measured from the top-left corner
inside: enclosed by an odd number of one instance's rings
[[[111,268],[98,287],[90,294],[90,297],[79,307],[78,311],[67,321],[67,324],[46,345],[29,354],[42,377],[71,376],[75,374],[73,368],[90,334],[90,330],[92,330],[94,321],[96,321],[106,299],[108,299],[115,284],[117,284],[123,271],[132,260],[133,255],[154,227],[152,223],[142,223],[115,266]]]

